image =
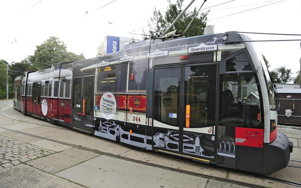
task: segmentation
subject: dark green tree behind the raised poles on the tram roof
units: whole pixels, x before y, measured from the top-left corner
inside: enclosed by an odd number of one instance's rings
[[[175,20],[175,18],[178,17],[178,15],[182,12],[183,2],[184,0],[177,0],[175,4],[169,2],[169,6],[165,11],[165,16],[160,11],[157,11],[155,7],[153,17],[151,17],[148,21],[148,26],[150,28],[148,35],[155,37],[156,33],[163,34]],[[195,17],[194,21],[191,23],[191,26],[186,31],[190,37],[204,34],[204,28],[207,24],[207,15],[209,14],[209,11],[206,11],[205,13],[198,13],[198,15]],[[176,29],[185,31],[186,27],[191,22],[196,13],[196,7],[194,7],[193,11],[186,11],[178,20],[178,22],[175,23],[175,25],[169,30],[169,32]],[[145,33],[144,35],[147,36],[147,34]]]

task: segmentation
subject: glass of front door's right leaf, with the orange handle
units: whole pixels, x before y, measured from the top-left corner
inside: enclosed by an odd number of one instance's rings
[[[214,126],[215,91],[216,65],[185,67],[184,130]]]

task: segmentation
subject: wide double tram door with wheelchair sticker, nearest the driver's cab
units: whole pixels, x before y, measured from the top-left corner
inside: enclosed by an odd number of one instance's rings
[[[216,75],[216,65],[155,69],[154,147],[214,157]]]

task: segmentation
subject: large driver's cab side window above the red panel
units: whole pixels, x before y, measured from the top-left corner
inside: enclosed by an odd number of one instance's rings
[[[263,129],[260,88],[255,73],[221,74],[219,125]]]

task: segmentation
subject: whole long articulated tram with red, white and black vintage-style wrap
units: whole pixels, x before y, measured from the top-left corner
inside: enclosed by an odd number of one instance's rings
[[[277,131],[275,88],[246,41],[233,31],[154,38],[57,63],[16,77],[14,108],[141,150],[272,174],[293,145]]]

